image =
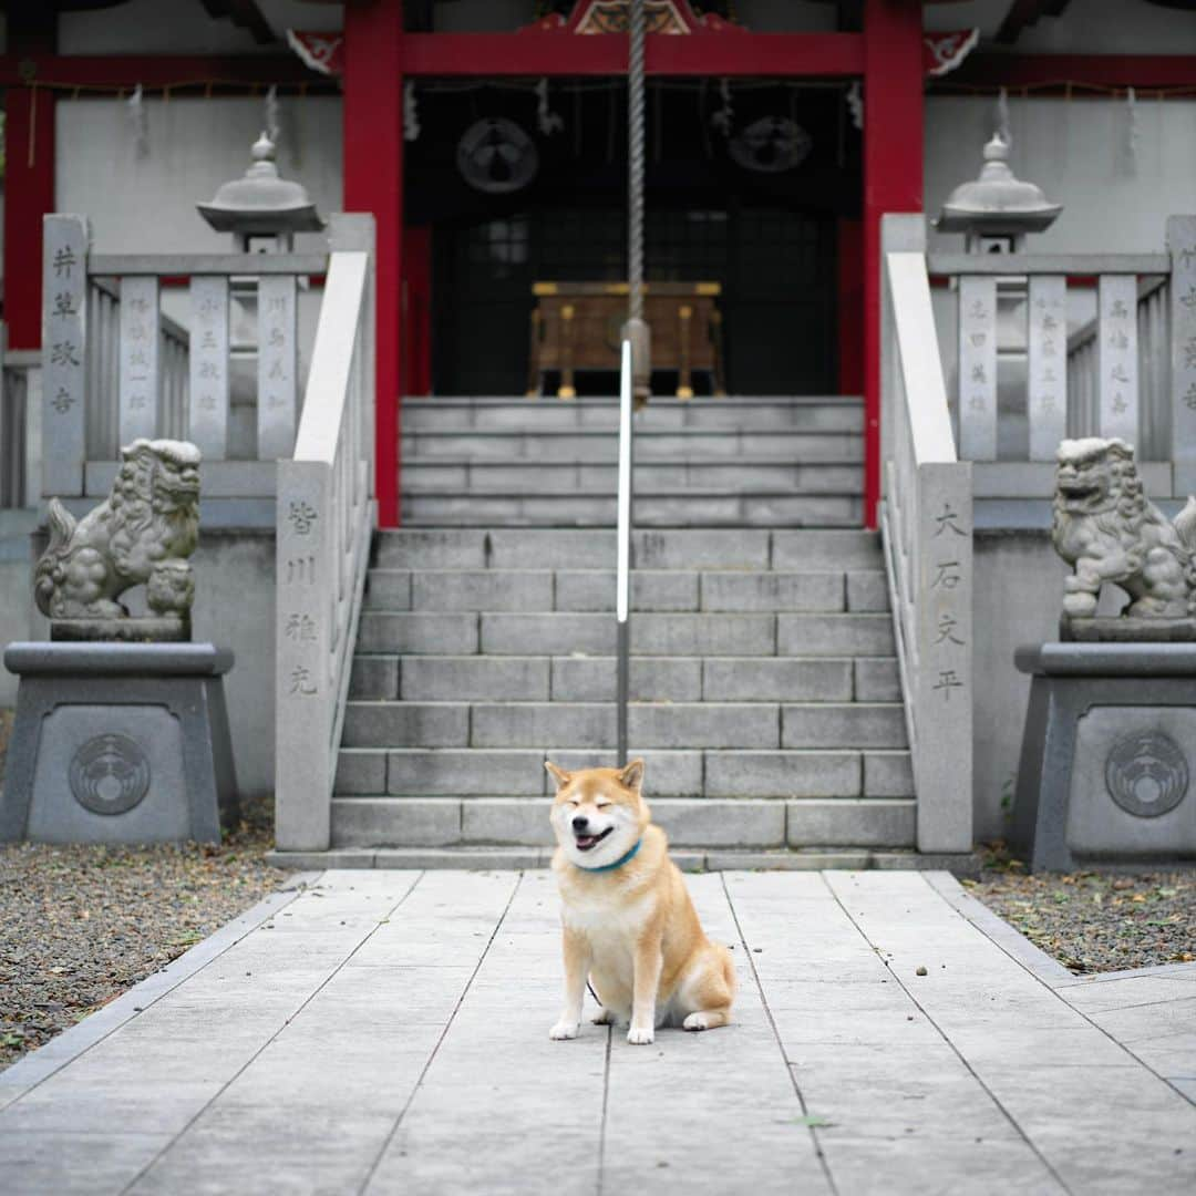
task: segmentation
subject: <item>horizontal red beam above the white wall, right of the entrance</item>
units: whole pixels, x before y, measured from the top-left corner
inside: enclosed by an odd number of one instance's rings
[[[972,54],[935,91],[954,86],[1196,87],[1191,54]]]

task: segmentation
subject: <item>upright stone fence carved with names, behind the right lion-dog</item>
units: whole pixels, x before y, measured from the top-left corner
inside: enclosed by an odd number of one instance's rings
[[[1196,489],[1196,216],[1171,216],[1166,244],[927,256],[953,287],[952,398],[977,498],[1049,498],[1060,440],[1082,435],[1133,444],[1157,494]]]

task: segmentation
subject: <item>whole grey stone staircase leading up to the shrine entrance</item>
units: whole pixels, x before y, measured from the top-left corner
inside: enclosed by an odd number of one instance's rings
[[[405,525],[376,539],[332,801],[346,862],[544,862],[545,757],[614,761],[614,413],[404,411]],[[859,404],[654,401],[641,420],[629,732],[675,854],[909,866],[887,585],[855,530]]]

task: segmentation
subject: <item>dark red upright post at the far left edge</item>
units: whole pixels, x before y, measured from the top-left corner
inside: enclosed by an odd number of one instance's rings
[[[42,347],[42,216],[54,210],[54,93],[5,99],[4,318],[8,347]]]

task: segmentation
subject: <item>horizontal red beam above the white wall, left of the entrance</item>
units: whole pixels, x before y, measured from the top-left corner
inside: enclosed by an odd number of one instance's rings
[[[35,80],[48,87],[132,87],[140,83],[151,90],[202,87],[209,83],[334,85],[293,54],[0,54],[0,86],[19,86]]]

